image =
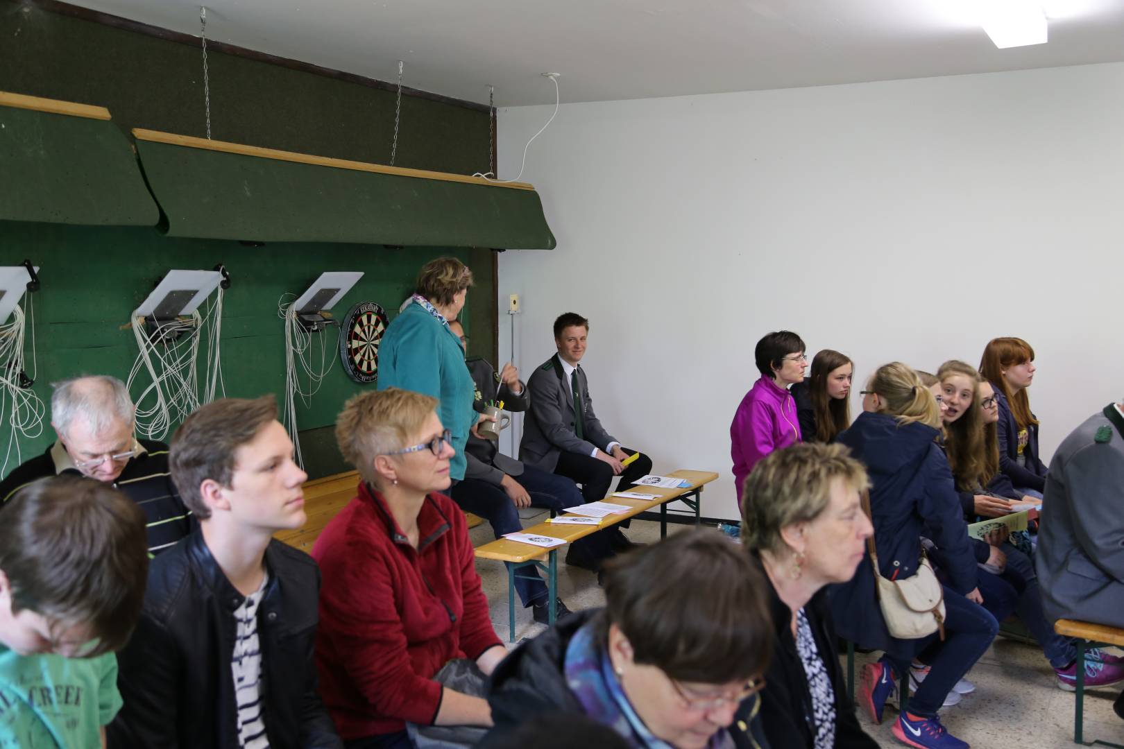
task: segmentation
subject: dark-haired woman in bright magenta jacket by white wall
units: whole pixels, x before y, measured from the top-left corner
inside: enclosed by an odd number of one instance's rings
[[[759,340],[753,350],[761,378],[742,399],[729,424],[738,504],[742,484],[758,460],[800,441],[800,420],[788,386],[804,382],[804,371],[808,368],[805,348],[795,332],[779,330]]]

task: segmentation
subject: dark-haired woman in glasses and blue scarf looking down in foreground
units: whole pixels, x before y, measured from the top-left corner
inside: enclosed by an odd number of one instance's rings
[[[767,746],[756,694],[772,643],[765,585],[714,531],[606,564],[605,609],[559,622],[496,669],[489,739],[542,713],[579,712],[635,749]]]

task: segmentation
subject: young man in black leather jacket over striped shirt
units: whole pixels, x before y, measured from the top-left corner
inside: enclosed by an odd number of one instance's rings
[[[319,569],[273,539],[305,524],[307,478],[273,396],[200,408],[170,466],[200,530],[152,564],[109,746],[342,749],[312,658]]]

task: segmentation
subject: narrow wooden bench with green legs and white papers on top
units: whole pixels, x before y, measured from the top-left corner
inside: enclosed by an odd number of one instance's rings
[[[677,478],[685,478],[690,482],[690,485],[683,488],[636,486],[632,490],[652,494],[654,497],[652,500],[631,500],[624,496],[607,496],[605,497],[607,502],[613,502],[614,504],[627,504],[633,509],[620,514],[608,515],[601,520],[599,526],[565,526],[541,522],[537,526],[525,529],[525,532],[534,533],[536,536],[550,536],[551,538],[564,539],[569,544],[578,540],[579,538],[584,538],[590,533],[595,533],[599,530],[614,526],[622,520],[659,506],[660,538],[663,538],[668,535],[668,503],[674,501],[682,501],[687,504],[687,506],[691,508],[695,514],[695,524],[698,526],[700,493],[703,492],[703,486],[716,479],[718,474],[708,471],[676,471],[668,475]],[[534,569],[542,569],[546,573],[546,591],[550,596],[550,603],[547,606],[549,621],[552,624],[554,623],[554,616],[556,613],[555,602],[558,601],[558,550],[560,548],[562,547],[556,546],[552,549],[546,549],[541,546],[513,541],[506,538],[499,538],[490,544],[484,544],[483,546],[475,548],[475,556],[478,559],[497,559],[499,561],[509,563],[507,565],[507,609],[509,624],[508,639],[511,642],[515,642],[515,578],[516,576],[527,576],[517,574],[518,569],[522,567],[534,567]],[[542,561],[543,557],[546,557],[547,559],[545,565]],[[532,570],[532,573],[535,574],[535,577],[537,578],[537,573],[534,570]]]

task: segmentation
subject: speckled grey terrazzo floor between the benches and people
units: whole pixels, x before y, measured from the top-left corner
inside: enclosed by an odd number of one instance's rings
[[[545,519],[545,513],[525,510],[524,526]],[[669,524],[668,531],[689,528]],[[492,539],[488,523],[470,530],[474,545]],[[629,539],[651,544],[660,539],[660,523],[634,520],[626,531]],[[605,604],[605,595],[592,573],[566,567],[562,563],[565,551],[559,554],[559,595],[577,611]],[[507,573],[499,561],[478,559],[477,569],[483,581],[489,611],[496,633],[507,642]],[[531,618],[531,610],[516,604],[516,639],[535,637],[546,628]],[[514,645],[508,645],[514,647]],[[874,656],[859,654],[855,673]],[[941,720],[949,731],[976,749],[1063,749],[1073,747],[1073,694],[1054,686],[1054,675],[1041,650],[1035,647],[998,638],[969,674],[976,692],[966,695],[953,707],[941,711]],[[1113,700],[1120,687],[1094,689],[1085,700],[1085,740],[1102,739],[1124,743],[1124,721],[1113,712]],[[862,711],[859,720],[863,728],[882,747],[901,747],[890,733],[897,712],[888,706],[881,725],[872,725]],[[785,749],[774,747],[773,749]]]

